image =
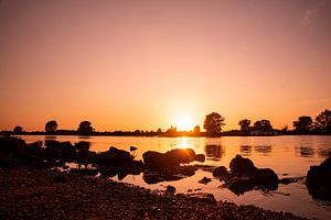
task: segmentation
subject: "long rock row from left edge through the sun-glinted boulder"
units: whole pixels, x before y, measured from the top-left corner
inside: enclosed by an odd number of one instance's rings
[[[131,151],[137,150],[131,146]],[[75,174],[118,176],[122,179],[128,174],[139,175],[148,184],[164,180],[178,180],[194,175],[195,166],[182,166],[193,161],[204,162],[203,154],[195,154],[192,148],[175,148],[167,153],[146,152],[143,162],[137,161],[127,151],[110,146],[108,151],[96,153],[89,151],[88,142],[45,141],[26,144],[17,138],[0,138],[0,167],[17,165],[35,168],[65,167],[65,163],[77,163],[85,168],[72,168]],[[89,167],[87,167],[90,165]]]

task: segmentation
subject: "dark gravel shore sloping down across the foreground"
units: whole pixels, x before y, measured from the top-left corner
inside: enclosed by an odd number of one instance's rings
[[[302,219],[58,170],[0,168],[0,219]]]

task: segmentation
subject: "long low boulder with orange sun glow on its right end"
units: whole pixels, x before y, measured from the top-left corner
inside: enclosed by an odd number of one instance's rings
[[[148,151],[142,154],[142,158],[149,168],[173,167],[193,162],[195,152],[192,148],[174,148],[164,154]]]

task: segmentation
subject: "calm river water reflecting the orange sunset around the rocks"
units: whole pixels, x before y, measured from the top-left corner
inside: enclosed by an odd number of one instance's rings
[[[257,167],[273,168],[279,178],[303,177],[311,165],[319,165],[331,151],[331,136],[223,136],[206,138],[128,138],[128,136],[42,136],[23,135],[26,142],[56,141],[90,142],[90,150],[107,151],[116,146],[129,151],[131,145],[137,146],[136,157],[142,158],[146,151],[167,152],[178,147],[191,147],[195,153],[206,155],[205,165],[226,166],[236,154],[249,157]],[[197,182],[204,176],[212,178],[207,185]],[[114,179],[118,180],[117,177]],[[331,219],[331,202],[313,200],[305,186],[305,179],[289,185],[279,185],[275,191],[252,190],[236,196],[226,188],[220,188],[222,183],[213,178],[209,172],[199,169],[194,176],[177,182],[163,182],[148,185],[142,174],[128,175],[121,182],[143,186],[150,189],[164,189],[172,185],[178,193],[188,193],[188,189],[202,189],[211,193],[216,199],[234,201],[236,204],[256,205],[276,211],[289,211],[298,216],[318,219]]]

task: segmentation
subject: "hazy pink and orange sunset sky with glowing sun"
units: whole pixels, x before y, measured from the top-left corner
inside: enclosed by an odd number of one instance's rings
[[[0,130],[291,127],[330,82],[331,1],[0,0]]]

